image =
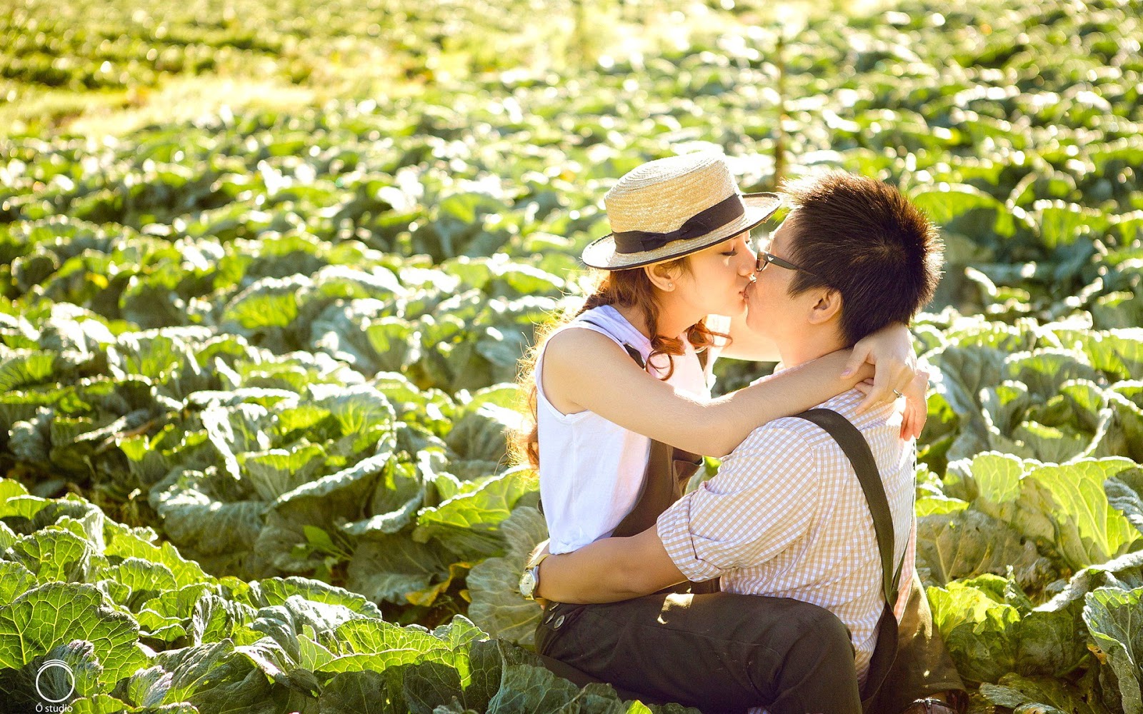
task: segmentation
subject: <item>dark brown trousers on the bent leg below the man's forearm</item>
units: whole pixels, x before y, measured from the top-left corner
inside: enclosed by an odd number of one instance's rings
[[[655,594],[552,603],[536,649],[647,703],[706,714],[858,714],[849,633],[832,612],[786,597]]]

